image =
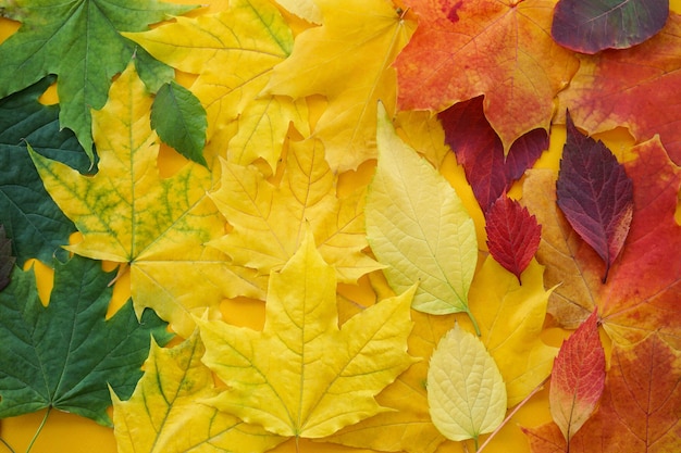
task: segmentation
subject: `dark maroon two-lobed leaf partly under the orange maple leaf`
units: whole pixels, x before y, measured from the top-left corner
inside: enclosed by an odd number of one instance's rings
[[[502,139],[485,117],[483,97],[458,102],[441,112],[445,142],[454,150],[463,166],[466,178],[483,212],[520,179],[548,147],[544,129],[523,135],[504,156]]]

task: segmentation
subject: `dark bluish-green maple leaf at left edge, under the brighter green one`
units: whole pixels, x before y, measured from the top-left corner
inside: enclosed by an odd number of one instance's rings
[[[16,262],[36,257],[66,260],[61,246],[75,231],[73,223],[46,192],[26,152],[26,142],[45,156],[86,172],[90,162],[73,133],[60,130],[59,105],[42,105],[38,97],[53,77],[0,100],[0,222],[12,238]]]

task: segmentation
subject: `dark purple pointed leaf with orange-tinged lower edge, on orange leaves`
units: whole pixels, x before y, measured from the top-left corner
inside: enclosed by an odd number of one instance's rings
[[[603,282],[619,255],[633,215],[633,185],[607,147],[581,134],[566,114],[568,139],[556,183],[566,218],[605,262]]]

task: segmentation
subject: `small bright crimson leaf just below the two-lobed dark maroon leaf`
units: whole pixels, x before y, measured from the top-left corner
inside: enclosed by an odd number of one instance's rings
[[[520,274],[540,247],[542,227],[536,217],[504,193],[487,210],[485,230],[492,257],[522,285]]]

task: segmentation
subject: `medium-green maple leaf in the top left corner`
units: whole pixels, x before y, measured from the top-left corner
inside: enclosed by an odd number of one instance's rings
[[[111,78],[131,58],[136,54],[151,89],[172,76],[120,32],[143,32],[193,8],[156,0],[0,0],[2,15],[22,22],[0,46],[0,97],[57,74],[61,125],[76,133],[92,159],[90,109],[102,108]]]

